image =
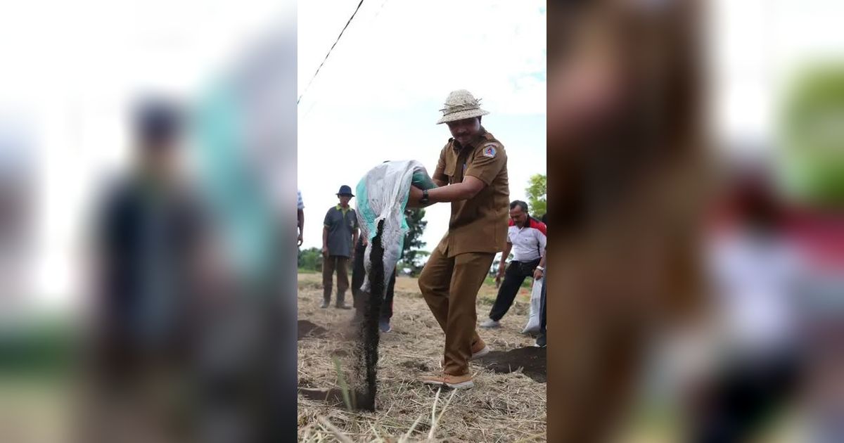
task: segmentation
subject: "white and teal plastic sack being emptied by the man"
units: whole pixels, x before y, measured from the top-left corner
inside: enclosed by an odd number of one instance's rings
[[[410,186],[423,189],[434,187],[425,166],[416,160],[387,161],[372,168],[360,179],[355,190],[360,235],[369,240],[364,254],[366,277],[361,289],[370,291],[369,274],[372,239],[378,234],[378,223],[384,220],[381,246],[384,247],[384,288],[396,270],[404,246],[408,223],[404,209],[408,204]]]

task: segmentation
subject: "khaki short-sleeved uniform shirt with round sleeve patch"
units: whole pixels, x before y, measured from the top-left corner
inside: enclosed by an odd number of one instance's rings
[[[450,138],[432,178],[453,185],[462,182],[464,176],[473,176],[487,186],[469,200],[452,202],[448,232],[437,247],[446,257],[504,251],[510,210],[507,154],[504,145],[483,127],[465,147]]]

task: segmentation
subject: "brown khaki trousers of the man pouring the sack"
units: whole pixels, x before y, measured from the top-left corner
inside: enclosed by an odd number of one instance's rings
[[[495,254],[468,252],[446,257],[439,248],[431,253],[419,275],[419,289],[436,321],[446,332],[446,374],[468,373],[472,344],[478,339],[475,301],[490,273]]]

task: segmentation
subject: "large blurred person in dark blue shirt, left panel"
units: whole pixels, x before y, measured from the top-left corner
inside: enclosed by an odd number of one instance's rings
[[[84,441],[185,438],[192,312],[207,226],[178,156],[180,105],[144,100],[133,115],[135,168],[99,203],[94,435]]]

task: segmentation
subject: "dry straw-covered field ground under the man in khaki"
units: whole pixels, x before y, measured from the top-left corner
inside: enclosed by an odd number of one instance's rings
[[[538,348],[516,351],[522,353],[519,356],[495,353],[495,362],[473,363],[475,386],[470,390],[440,392],[419,383],[419,376],[439,369],[444,336],[419,294],[414,278],[398,278],[392,332],[381,334],[376,412],[350,411],[339,394],[328,400],[326,394],[315,395],[318,389],[343,391],[349,377],[353,345],[348,339],[353,311],[341,311],[333,306],[320,309],[321,300],[320,277],[300,274],[299,320],[322,328],[299,341],[300,440],[545,439],[544,352]],[[492,300],[495,300],[495,287],[484,286],[478,301],[480,319],[489,312]],[[527,321],[528,300],[527,289],[522,289],[502,327],[480,331],[495,351],[532,347],[533,338],[520,333]],[[333,356],[338,357],[339,372]],[[527,362],[529,367],[525,370],[511,367],[515,362]],[[512,371],[503,373],[509,370]]]

